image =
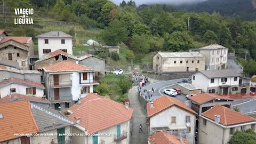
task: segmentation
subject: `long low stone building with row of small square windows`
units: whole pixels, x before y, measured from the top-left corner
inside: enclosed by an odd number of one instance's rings
[[[204,70],[205,56],[198,52],[157,52],[153,69],[157,73]]]

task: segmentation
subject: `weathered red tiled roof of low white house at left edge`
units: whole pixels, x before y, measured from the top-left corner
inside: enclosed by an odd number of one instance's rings
[[[44,85],[42,85],[42,84],[40,84],[40,83],[35,83],[35,82],[31,82],[31,81],[24,81],[24,80],[22,80],[22,79],[18,79],[18,78],[13,78],[13,77],[11,77],[11,78],[9,78],[9,79],[7,79],[7,80],[4,80],[4,81],[2,81],[2,82],[0,82],[0,86],[1,85],[4,85],[4,84],[7,84],[7,83],[11,83],[11,82],[13,82],[13,83],[21,83],[21,84],[25,84],[25,85],[31,85],[31,86],[35,86],[35,87],[38,87],[38,88],[40,88],[40,89],[45,89],[45,87],[44,87]]]

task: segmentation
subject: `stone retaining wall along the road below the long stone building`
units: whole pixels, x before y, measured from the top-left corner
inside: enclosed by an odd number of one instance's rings
[[[157,73],[142,73],[144,76],[157,79],[159,81],[167,81],[172,79],[179,79],[179,78],[188,78],[191,75],[195,74],[192,73],[166,73],[166,74],[157,74]]]

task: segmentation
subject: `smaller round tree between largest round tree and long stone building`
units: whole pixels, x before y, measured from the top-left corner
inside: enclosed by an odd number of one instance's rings
[[[145,35],[134,34],[132,36],[131,43],[132,50],[139,53],[148,53],[150,49],[150,44]]]

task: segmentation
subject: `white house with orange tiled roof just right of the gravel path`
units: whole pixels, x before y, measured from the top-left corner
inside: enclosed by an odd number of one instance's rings
[[[197,113],[185,103],[167,95],[147,103],[147,123],[149,135],[158,131],[180,136],[195,143],[195,123]]]

